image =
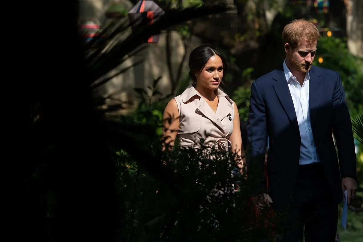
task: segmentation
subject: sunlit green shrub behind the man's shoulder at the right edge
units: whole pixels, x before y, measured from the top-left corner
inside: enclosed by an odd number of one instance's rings
[[[353,56],[346,43],[335,37],[321,37],[318,42],[314,65],[339,72],[346,93],[351,117],[363,112],[362,59]],[[323,59],[319,63],[319,58]]]

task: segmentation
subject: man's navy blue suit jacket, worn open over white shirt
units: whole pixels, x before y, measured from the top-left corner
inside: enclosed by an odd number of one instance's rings
[[[334,195],[332,202],[340,203],[343,199],[341,178],[352,177],[356,180],[354,138],[342,81],[338,72],[312,66],[309,86],[311,128],[323,165],[322,176],[326,177],[330,185],[327,189],[331,189]],[[247,136],[248,176],[255,183],[252,184],[252,193],[266,192],[264,160],[269,137],[268,193],[273,205],[283,208],[288,205],[296,184],[301,138],[282,66],[253,82]]]

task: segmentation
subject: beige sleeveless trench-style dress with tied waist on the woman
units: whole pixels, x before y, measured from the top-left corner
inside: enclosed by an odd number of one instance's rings
[[[179,146],[200,148],[203,145],[226,151],[232,146],[228,139],[233,131],[233,101],[220,89],[216,94],[219,98],[216,113],[193,85],[174,98],[180,117]]]

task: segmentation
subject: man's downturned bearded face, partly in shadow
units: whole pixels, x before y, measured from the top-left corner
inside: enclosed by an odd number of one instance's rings
[[[286,53],[291,66],[299,72],[306,73],[310,70],[311,65],[313,64],[316,50],[316,42],[310,45],[302,43],[295,49],[288,48]]]

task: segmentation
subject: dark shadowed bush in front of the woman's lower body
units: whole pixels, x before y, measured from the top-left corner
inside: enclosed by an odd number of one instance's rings
[[[266,229],[277,222],[265,220],[268,211],[255,217],[248,191],[258,181],[231,177],[237,168],[231,153],[204,148],[164,152],[160,162],[166,161],[165,170],[173,174],[168,182],[155,179],[125,153],[115,159],[123,198],[119,213],[126,214],[118,224],[120,241],[225,241],[226,236],[231,242],[264,241]],[[239,184],[235,193],[232,184]]]

